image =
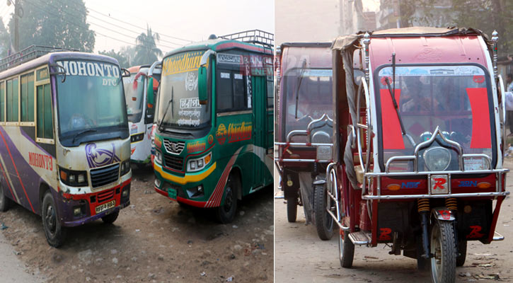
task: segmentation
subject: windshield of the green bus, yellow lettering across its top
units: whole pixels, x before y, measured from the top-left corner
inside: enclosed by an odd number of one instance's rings
[[[200,105],[197,69],[202,51],[163,59],[156,121],[162,127],[201,128],[209,125],[209,105]],[[208,67],[207,67],[208,69]]]

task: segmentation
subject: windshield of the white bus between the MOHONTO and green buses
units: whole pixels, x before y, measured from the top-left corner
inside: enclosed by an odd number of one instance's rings
[[[144,76],[137,78],[137,87],[134,88],[134,79],[136,74],[123,78],[123,87],[125,88],[125,100],[127,100],[128,121],[137,123],[142,118],[142,102],[144,100]]]

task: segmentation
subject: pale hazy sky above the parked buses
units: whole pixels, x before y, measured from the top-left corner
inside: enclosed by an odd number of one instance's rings
[[[158,47],[165,54],[188,42],[206,40],[212,33],[226,35],[243,30],[275,30],[274,0],[85,0],[88,23],[96,32],[95,52],[135,45],[146,31],[161,35]],[[0,1],[0,16],[8,23],[13,6]]]

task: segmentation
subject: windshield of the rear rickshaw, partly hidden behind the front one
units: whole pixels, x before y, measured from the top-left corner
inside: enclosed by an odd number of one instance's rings
[[[286,135],[296,129],[306,130],[311,121],[324,114],[333,118],[331,76],[330,69],[294,69],[284,76]],[[304,142],[305,139],[304,136],[296,136],[292,141]]]

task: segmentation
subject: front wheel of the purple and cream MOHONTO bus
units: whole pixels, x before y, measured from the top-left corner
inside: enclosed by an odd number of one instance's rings
[[[42,199],[41,217],[46,241],[50,246],[59,248],[66,238],[66,229],[59,221],[57,206],[50,191],[46,192]]]

